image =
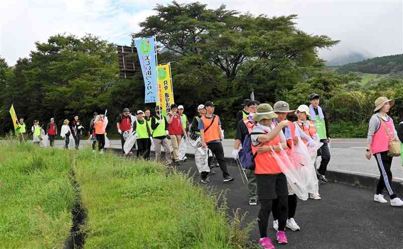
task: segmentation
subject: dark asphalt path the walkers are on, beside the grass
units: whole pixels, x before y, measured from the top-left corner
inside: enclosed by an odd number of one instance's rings
[[[184,172],[190,169],[190,175],[196,172],[191,160],[177,168]],[[248,212],[245,219],[248,223],[257,218],[260,206],[249,206],[247,187],[242,185],[238,168],[229,166],[228,170],[235,178],[233,182],[223,183],[220,168],[214,168],[216,175],[210,176],[208,186],[213,186],[213,191],[217,192],[228,190],[226,197],[230,214],[241,208],[242,213]],[[197,172],[194,177],[199,181]],[[295,220],[301,230],[286,230],[287,245],[277,244],[275,230],[269,226],[268,236],[276,241],[276,248],[403,248],[403,208],[374,202],[372,191],[356,186],[328,183],[320,186],[320,194],[322,200],[298,200]],[[269,224],[273,224],[272,216]],[[257,243],[257,224],[250,236]]]

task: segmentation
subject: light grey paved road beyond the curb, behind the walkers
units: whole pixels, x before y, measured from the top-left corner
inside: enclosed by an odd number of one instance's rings
[[[63,141],[56,141],[56,146],[62,147]],[[113,148],[121,148],[119,140],[110,141]],[[87,145],[82,141],[81,145]],[[234,140],[223,141],[224,154],[232,157]],[[379,170],[374,158],[368,161],[365,158],[366,139],[333,139],[330,145],[331,159],[328,169],[343,172],[352,172],[359,175],[379,177]],[[193,154],[194,150],[188,149]],[[403,167],[399,157],[393,159],[392,173],[395,180],[403,181]]]

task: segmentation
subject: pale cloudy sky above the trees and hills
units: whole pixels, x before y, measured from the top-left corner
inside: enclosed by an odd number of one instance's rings
[[[0,57],[14,65],[35,49],[35,41],[51,35],[91,33],[119,45],[130,44],[131,32],[152,15],[154,0],[0,0]],[[189,3],[193,1],[177,1]],[[341,44],[322,51],[321,57],[352,51],[370,56],[403,53],[403,0],[248,0],[199,1],[268,17],[298,14],[299,29],[327,35]]]

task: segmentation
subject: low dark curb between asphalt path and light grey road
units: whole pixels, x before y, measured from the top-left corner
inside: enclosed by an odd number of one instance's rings
[[[112,149],[115,152],[121,153],[122,149]],[[137,150],[133,150],[137,151]],[[153,151],[152,151],[153,152]],[[164,156],[165,152],[161,152],[161,156]],[[194,154],[187,153],[186,157],[188,159],[194,160]],[[238,167],[237,163],[233,158],[225,158],[225,162],[227,166],[235,166]],[[370,174],[356,174],[349,171],[341,171],[341,170],[327,170],[326,178],[329,182],[332,183],[343,183],[349,184],[357,187],[372,189],[374,192],[376,190],[376,186],[378,185],[379,177]],[[403,196],[403,179],[393,179],[391,182],[391,187],[395,194],[398,196]]]

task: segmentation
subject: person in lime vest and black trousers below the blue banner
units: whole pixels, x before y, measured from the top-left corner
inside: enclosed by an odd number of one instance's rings
[[[144,112],[142,110],[137,111],[137,120],[133,123],[133,131],[136,131],[137,137],[137,158],[143,156],[144,159],[149,160],[147,157],[147,151],[149,148],[150,141],[150,128],[146,119],[144,119]]]

